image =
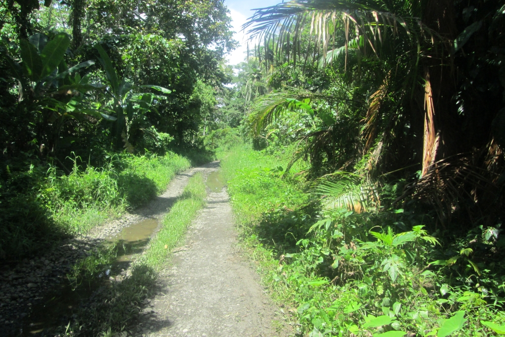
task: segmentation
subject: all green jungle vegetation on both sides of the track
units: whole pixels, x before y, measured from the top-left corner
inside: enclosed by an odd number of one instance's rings
[[[228,15],[0,6],[2,263],[217,158],[294,334],[505,334],[505,2],[287,1],[233,67]]]

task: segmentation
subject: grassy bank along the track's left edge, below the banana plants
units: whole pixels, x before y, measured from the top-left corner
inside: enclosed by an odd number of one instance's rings
[[[29,256],[144,205],[190,166],[179,155],[115,155],[100,168],[34,167],[0,181],[0,258]]]

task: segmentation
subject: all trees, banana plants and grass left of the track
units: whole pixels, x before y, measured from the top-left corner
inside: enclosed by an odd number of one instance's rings
[[[2,2],[0,260],[139,206],[174,152],[212,158],[229,26],[220,0]]]

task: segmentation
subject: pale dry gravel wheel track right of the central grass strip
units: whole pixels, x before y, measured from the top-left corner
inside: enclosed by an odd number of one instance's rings
[[[216,165],[217,166],[217,165]],[[208,176],[217,167],[204,171]],[[161,293],[144,310],[138,336],[279,336],[276,308],[240,257],[226,188],[207,189],[207,206],[186,246],[162,272]]]

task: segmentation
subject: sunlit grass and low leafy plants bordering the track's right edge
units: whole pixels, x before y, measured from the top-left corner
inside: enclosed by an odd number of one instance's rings
[[[494,301],[482,285],[459,283],[456,261],[449,270],[432,262],[450,254],[437,242],[443,238],[435,240],[423,227],[401,234],[390,229],[395,221],[408,219],[422,225],[407,210],[324,211],[303,179],[281,178],[276,168],[289,161],[289,153],[241,145],[219,157],[241,244],[283,311],[294,315],[300,335],[503,333],[501,298],[494,296]],[[456,254],[471,274],[471,250]]]

